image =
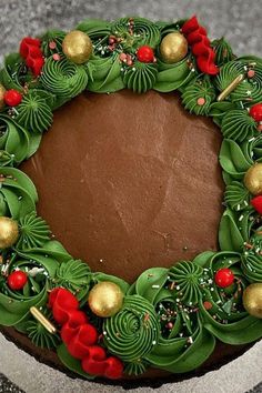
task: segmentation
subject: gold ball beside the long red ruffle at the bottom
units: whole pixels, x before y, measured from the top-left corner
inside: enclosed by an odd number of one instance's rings
[[[123,292],[113,282],[102,281],[90,291],[88,303],[95,315],[112,316],[122,308]]]

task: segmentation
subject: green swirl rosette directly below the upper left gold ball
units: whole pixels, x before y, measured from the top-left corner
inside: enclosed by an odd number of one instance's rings
[[[48,91],[66,102],[87,88],[88,73],[83,66],[64,58],[56,61],[50,57],[42,68],[40,81]]]

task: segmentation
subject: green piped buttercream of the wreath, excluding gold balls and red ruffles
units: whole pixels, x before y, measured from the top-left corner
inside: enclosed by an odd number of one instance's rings
[[[182,26],[183,21],[153,23],[143,18],[85,20],[77,27],[93,44],[85,62],[71,61],[63,53],[66,32],[51,30],[29,43],[44,59],[41,72],[36,73],[37,66],[21,53],[8,56],[0,71],[2,88],[21,94],[19,103],[6,102],[0,109],[0,216],[16,220],[19,229],[16,242],[1,250],[0,324],[14,326],[38,346],[57,349],[61,361],[85,377],[90,375],[70,356],[61,337],[48,332],[30,313],[30,308],[37,306],[46,318],[52,318],[47,303],[53,288],[71,291],[90,314],[90,290],[103,281],[119,285],[124,293],[121,310],[105,319],[91,313],[90,320],[105,333],[104,347],[124,363],[127,374],[138,375],[149,366],[188,372],[210,356],[216,339],[245,344],[262,337],[262,320],[250,315],[242,301],[245,288],[262,283],[261,212],[252,205],[253,195],[244,182],[246,171],[262,162],[261,124],[249,113],[253,104],[262,102],[262,60],[234,57],[221,39],[211,43],[220,68],[216,75],[201,72],[190,47],[183,59],[165,62],[161,41]],[[154,59],[139,60],[137,53],[143,46],[151,48]],[[238,85],[218,101],[242,74]],[[213,118],[224,137],[219,155],[225,182],[220,251],[203,252],[193,261],[175,261],[170,269],[149,269],[131,285],[120,278],[91,272],[50,238],[48,224],[37,215],[37,190],[16,168],[39,148],[53,110],[84,90],[110,93],[124,88],[138,93],[178,90],[184,108]],[[215,281],[221,269],[230,269],[234,275],[226,288]],[[18,290],[7,280],[16,271],[27,274],[26,285]]]

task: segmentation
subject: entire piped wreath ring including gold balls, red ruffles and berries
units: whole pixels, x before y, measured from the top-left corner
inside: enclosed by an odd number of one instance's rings
[[[262,336],[262,60],[210,41],[195,17],[175,23],[85,20],[24,38],[0,71],[0,324],[56,350],[93,379],[196,369],[215,341]],[[91,272],[37,215],[37,190],[18,167],[52,112],[83,90],[181,92],[224,137],[220,251],[144,271],[133,284]]]

